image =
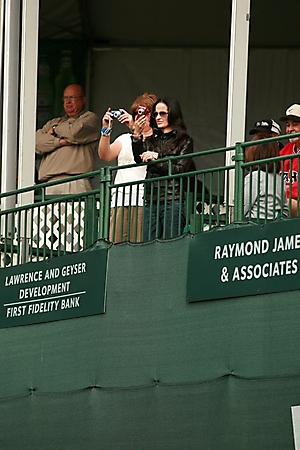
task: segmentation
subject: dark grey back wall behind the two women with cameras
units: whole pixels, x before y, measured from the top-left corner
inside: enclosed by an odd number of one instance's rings
[[[223,147],[228,55],[226,48],[94,50],[90,107],[101,118],[108,106],[129,109],[144,91],[169,95],[181,104],[195,151]],[[300,102],[299,69],[300,50],[250,51],[246,140],[256,120],[278,121],[290,104]],[[126,128],[115,124],[112,138],[122,132]],[[221,155],[206,157],[201,168],[223,163]]]

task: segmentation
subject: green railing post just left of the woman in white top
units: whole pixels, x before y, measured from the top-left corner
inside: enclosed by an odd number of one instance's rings
[[[112,174],[109,167],[100,169],[100,224],[99,238],[108,239],[109,236],[109,217],[110,217],[110,184]]]

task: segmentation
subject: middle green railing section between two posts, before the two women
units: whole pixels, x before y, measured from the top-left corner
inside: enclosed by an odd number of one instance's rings
[[[214,149],[212,151],[205,151],[201,153],[193,154],[193,158],[201,157],[207,154],[217,154],[224,153],[226,151],[234,150],[232,148],[219,148]],[[121,199],[121,204],[124,204],[125,194],[124,190],[127,188],[127,195],[132,198],[132,191],[147,192],[147,196],[144,195],[144,199],[146,198],[146,203],[143,202],[142,209],[140,213],[138,213],[138,196],[136,196],[134,201],[131,201],[131,206],[135,208],[133,214],[135,214],[136,219],[138,218],[138,214],[141,216],[141,235],[142,239],[135,239],[135,236],[138,235],[138,221],[135,220],[133,224],[129,227],[130,220],[127,220],[127,212],[124,208],[121,207],[121,212],[117,211],[118,203],[117,203],[117,195],[114,196],[114,200],[111,202],[110,207],[107,206],[107,213],[110,208],[111,214],[111,226],[110,226],[110,235],[105,236],[105,238],[109,237],[113,242],[120,242],[120,240],[130,240],[133,242],[140,242],[151,240],[150,238],[150,230],[145,230],[145,221],[143,217],[145,216],[145,209],[148,208],[150,215],[156,215],[157,222],[159,220],[159,203],[163,204],[163,209],[167,209],[167,203],[171,204],[171,216],[175,219],[175,200],[178,196],[175,195],[175,190],[179,190],[179,211],[178,215],[182,213],[185,214],[185,231],[195,232],[196,230],[210,229],[213,226],[220,226],[229,223],[229,202],[224,200],[224,186],[225,183],[228,183],[229,176],[225,177],[225,174],[228,174],[230,170],[234,170],[234,165],[231,166],[220,166],[209,169],[198,169],[193,170],[191,172],[172,174],[172,162],[176,159],[182,158],[191,158],[190,155],[184,156],[176,156],[166,158],[165,161],[168,162],[168,175],[145,179],[139,182],[131,182],[131,183],[119,183],[114,184],[113,182],[108,186],[108,190],[116,190],[119,193],[119,196],[123,195]],[[153,161],[150,164],[161,164],[164,160]],[[128,168],[135,167],[135,165],[128,165],[122,167],[113,167],[108,168],[108,171],[113,173],[114,171],[119,170],[127,170]],[[156,187],[155,187],[156,184]],[[167,188],[168,186],[168,188]],[[167,192],[169,195],[165,195]],[[170,191],[172,193],[170,194]],[[227,196],[229,190],[226,189]],[[163,198],[162,201],[158,202],[158,198]],[[119,207],[120,209],[120,207]],[[221,211],[222,209],[222,211]],[[124,210],[124,211],[123,211]],[[174,211],[174,212],[173,212]],[[123,224],[123,228],[121,227],[116,230],[116,223],[121,216],[121,223]],[[132,214],[132,212],[131,212]],[[124,221],[123,221],[124,219]],[[166,216],[164,217],[166,220]],[[170,228],[173,229],[173,223],[171,222]],[[125,229],[127,227],[127,230]],[[130,228],[130,229],[129,229]],[[131,231],[131,238],[129,236],[129,231]],[[179,230],[173,230],[173,235],[171,237],[176,237],[179,233]],[[166,239],[166,223],[163,224],[163,232],[161,235],[158,234],[158,227],[156,228],[156,233],[154,238],[162,238]]]

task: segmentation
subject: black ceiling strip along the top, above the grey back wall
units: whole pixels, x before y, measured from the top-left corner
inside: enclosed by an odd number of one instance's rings
[[[94,47],[224,47],[231,0],[174,0],[153,7],[113,0],[41,0],[40,38],[85,39]],[[252,0],[250,47],[299,47],[300,1]]]

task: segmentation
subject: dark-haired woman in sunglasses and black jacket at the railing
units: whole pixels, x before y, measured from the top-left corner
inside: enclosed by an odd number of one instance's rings
[[[134,130],[133,153],[135,161],[151,162],[147,167],[146,180],[167,176],[168,161],[160,159],[193,153],[193,139],[188,136],[178,101],[171,97],[157,100],[152,108],[150,126],[154,133],[143,140],[140,130]],[[183,174],[191,168],[192,158],[172,161],[172,175]],[[144,240],[169,239],[182,234],[185,226],[184,177],[164,181],[146,182]],[[152,187],[151,187],[152,185]]]

